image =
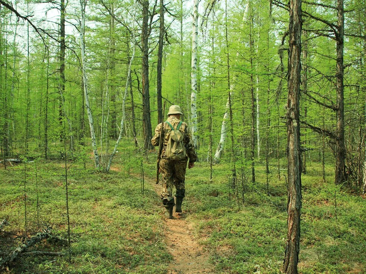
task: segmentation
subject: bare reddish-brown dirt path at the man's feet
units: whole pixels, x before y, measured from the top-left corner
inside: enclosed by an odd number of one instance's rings
[[[153,182],[154,190],[160,194],[161,185]],[[184,212],[184,203],[183,203]],[[213,273],[209,254],[194,239],[193,226],[184,213],[174,213],[173,219],[165,219],[166,244],[173,260],[168,267],[169,274]]]

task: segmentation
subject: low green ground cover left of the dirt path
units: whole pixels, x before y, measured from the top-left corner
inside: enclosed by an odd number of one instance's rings
[[[133,148],[131,148],[132,152]],[[126,153],[127,154],[127,153]],[[171,255],[166,250],[160,199],[153,187],[145,184],[141,194],[138,176],[121,170],[119,153],[115,167],[106,174],[96,172],[88,157],[68,162],[69,211],[71,225],[71,263],[66,257],[22,256],[12,266],[13,273],[165,273]],[[128,167],[139,172],[138,158]],[[132,153],[131,153],[132,158]],[[65,174],[63,160],[37,160],[26,164],[27,232],[37,232],[38,183],[41,228],[49,225],[67,238]],[[0,169],[0,219],[9,225],[0,232],[1,255],[14,249],[24,233],[24,164]],[[7,244],[10,238],[16,240]],[[6,237],[6,239],[5,239]],[[45,241],[31,250],[61,251],[63,245]],[[1,271],[1,270],[0,270]]]

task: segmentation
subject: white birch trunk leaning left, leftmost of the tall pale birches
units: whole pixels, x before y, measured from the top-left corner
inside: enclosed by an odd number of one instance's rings
[[[94,152],[94,161],[95,161],[95,167],[99,168],[99,156],[98,156],[98,150],[97,150],[97,144],[95,140],[95,131],[94,131],[94,122],[93,122],[93,116],[91,114],[90,110],[90,104],[89,104],[89,96],[88,96],[88,85],[87,85],[87,79],[86,79],[86,71],[85,71],[85,45],[84,45],[84,29],[85,29],[85,6],[86,6],[86,0],[81,0],[81,28],[80,28],[80,48],[81,48],[81,72],[83,77],[83,88],[84,88],[84,96],[85,96],[85,106],[86,111],[88,115],[89,120],[89,127],[90,127],[90,136],[91,136],[91,146],[93,148]]]

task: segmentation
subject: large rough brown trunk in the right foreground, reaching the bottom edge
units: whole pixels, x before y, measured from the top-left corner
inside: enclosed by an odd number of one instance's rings
[[[290,0],[288,96],[287,96],[287,244],[283,272],[298,273],[301,210],[300,71],[301,0]]]

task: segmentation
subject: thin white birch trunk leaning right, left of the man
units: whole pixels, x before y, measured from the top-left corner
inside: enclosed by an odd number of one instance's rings
[[[117,151],[117,147],[118,144],[122,138],[122,134],[123,134],[123,130],[124,130],[124,121],[126,119],[126,110],[125,110],[125,105],[126,105],[126,98],[127,98],[127,93],[128,93],[128,86],[130,85],[130,80],[131,80],[131,67],[132,67],[132,62],[134,61],[134,57],[135,57],[135,51],[136,51],[136,41],[135,41],[135,11],[136,11],[136,2],[134,2],[134,16],[133,16],[133,23],[132,23],[132,56],[131,56],[131,60],[130,60],[130,64],[128,65],[128,73],[127,73],[127,80],[126,80],[126,86],[124,88],[124,95],[123,95],[123,100],[122,100],[122,119],[121,119],[121,126],[119,128],[119,136],[118,139],[116,141],[115,147],[113,149],[113,152],[111,154],[111,156],[109,156],[109,161],[108,161],[108,165],[105,168],[105,171],[109,172],[109,170],[111,169],[111,164],[112,164],[112,160],[113,160],[113,156],[115,155],[116,151]]]

